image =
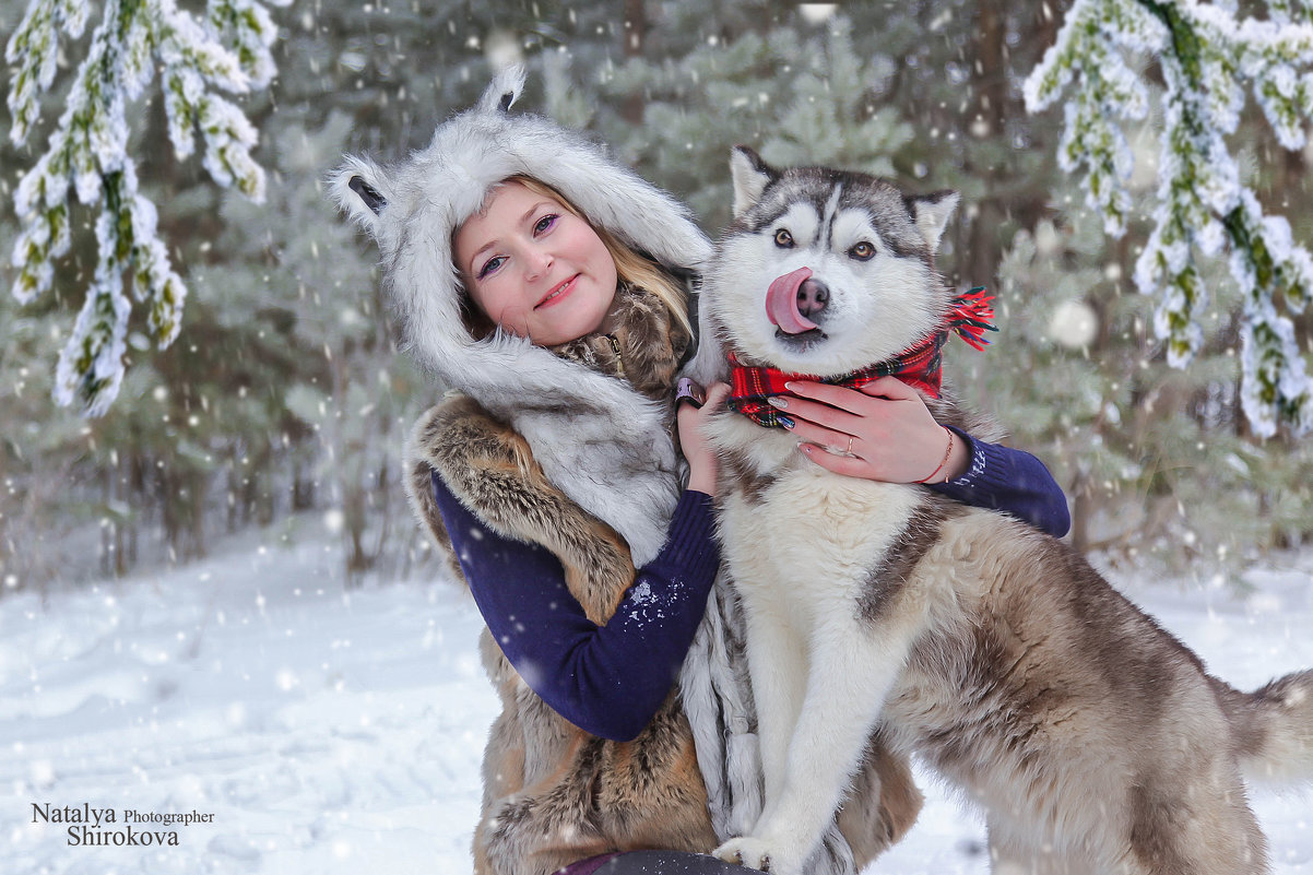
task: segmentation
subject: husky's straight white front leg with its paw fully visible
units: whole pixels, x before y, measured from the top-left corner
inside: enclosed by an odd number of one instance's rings
[[[772,875],[798,875],[834,819],[915,637],[913,624],[853,619],[814,636],[807,692],[789,741],[784,783],[751,836],[716,855]]]

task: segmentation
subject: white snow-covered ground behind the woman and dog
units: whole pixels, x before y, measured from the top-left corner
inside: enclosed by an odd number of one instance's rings
[[[446,581],[347,590],[324,543],[280,543],[246,536],[46,604],[0,599],[0,871],[470,871],[496,711],[473,603]],[[1313,552],[1246,579],[1239,598],[1119,583],[1237,686],[1313,666]],[[987,872],[979,820],[920,783],[918,825],[871,871]],[[1258,788],[1254,804],[1275,871],[1313,874],[1313,792]],[[92,837],[176,830],[177,845],[70,845],[92,809],[116,817]],[[125,809],[209,817],[125,824]]]

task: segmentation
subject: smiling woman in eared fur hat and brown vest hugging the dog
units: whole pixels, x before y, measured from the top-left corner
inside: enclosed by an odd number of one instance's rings
[[[671,430],[685,286],[709,244],[595,145],[511,116],[521,87],[509,71],[427,150],[386,169],[349,159],[332,180],[379,244],[406,343],[461,393],[416,426],[410,490],[488,624],[481,648],[503,712],[474,857],[498,875],[591,871],[634,849],[706,853],[760,804],[738,617],[731,591],[713,587],[714,456],[697,430],[723,388],[679,413],[683,490]],[[915,427],[918,402],[893,401],[889,416],[868,415],[886,399],[867,397],[850,415],[919,435],[905,456],[934,456],[930,470],[943,443]],[[827,414],[793,403],[801,436],[827,434]],[[1044,472],[1014,451],[972,451],[957,469],[990,457]],[[977,503],[1065,512],[1046,483]],[[907,765],[874,753],[817,871],[853,871],[915,819]]]

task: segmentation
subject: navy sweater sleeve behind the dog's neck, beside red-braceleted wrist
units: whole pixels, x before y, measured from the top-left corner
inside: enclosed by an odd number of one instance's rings
[[[1062,537],[1071,528],[1066,495],[1053,474],[1031,453],[977,440],[953,428],[970,448],[970,466],[957,480],[930,489],[976,507],[1001,510],[1043,532]]]

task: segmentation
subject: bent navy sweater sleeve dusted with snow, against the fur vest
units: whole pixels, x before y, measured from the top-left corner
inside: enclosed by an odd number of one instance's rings
[[[551,552],[487,528],[436,474],[433,494],[483,621],[529,688],[586,732],[637,737],[670,695],[720,568],[710,497],[680,497],[666,545],[596,625]]]

